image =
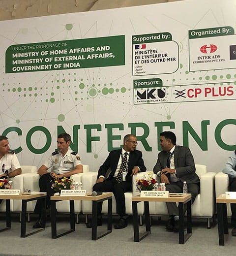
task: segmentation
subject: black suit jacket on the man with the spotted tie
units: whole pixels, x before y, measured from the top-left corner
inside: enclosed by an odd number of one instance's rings
[[[105,162],[100,166],[98,170],[97,177],[99,178],[100,175],[103,175],[106,177],[107,171],[110,171],[110,174],[108,174],[107,179],[110,180],[113,178],[115,171],[117,169],[118,161],[120,158],[121,149],[113,150],[109,153],[107,159]],[[132,169],[134,166],[139,166],[140,171],[146,171],[146,167],[144,165],[144,160],[142,159],[142,152],[139,150],[130,151],[129,153],[129,161],[128,161],[128,173],[125,177],[125,180],[128,182],[132,182]]]

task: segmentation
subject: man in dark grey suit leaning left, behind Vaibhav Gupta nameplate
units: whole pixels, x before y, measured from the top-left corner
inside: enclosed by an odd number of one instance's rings
[[[162,151],[158,154],[153,172],[160,176],[166,190],[182,193],[183,181],[187,182],[188,193],[192,194],[192,203],[200,192],[200,180],[195,173],[195,163],[189,148],[176,145],[176,135],[172,131],[160,133]],[[171,219],[166,224],[167,231],[178,232],[178,209],[176,203],[166,203]]]

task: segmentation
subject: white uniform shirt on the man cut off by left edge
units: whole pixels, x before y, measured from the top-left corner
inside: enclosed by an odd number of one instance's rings
[[[8,170],[8,173],[21,168],[21,165],[17,159],[17,156],[15,153],[9,153],[4,155],[0,159],[0,168],[1,168],[1,174],[3,174],[6,170]]]

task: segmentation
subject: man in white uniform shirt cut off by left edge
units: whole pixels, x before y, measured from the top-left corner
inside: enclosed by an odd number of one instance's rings
[[[0,136],[0,179],[11,179],[21,174],[21,166],[14,151],[10,150],[8,138]],[[1,203],[2,200],[0,200]]]

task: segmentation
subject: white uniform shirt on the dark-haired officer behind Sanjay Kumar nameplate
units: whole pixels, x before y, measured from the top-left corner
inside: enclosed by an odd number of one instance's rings
[[[51,168],[51,172],[63,174],[75,169],[75,166],[82,164],[78,153],[68,149],[64,157],[59,151],[51,154],[48,160],[44,163],[47,168]]]

